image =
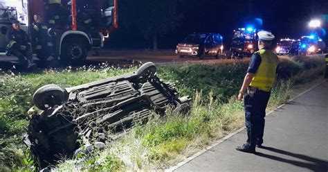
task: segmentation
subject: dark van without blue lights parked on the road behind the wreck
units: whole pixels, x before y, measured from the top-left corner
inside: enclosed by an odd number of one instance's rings
[[[192,33],[176,46],[175,53],[203,59],[205,56],[219,58],[224,50],[223,37],[219,33]]]

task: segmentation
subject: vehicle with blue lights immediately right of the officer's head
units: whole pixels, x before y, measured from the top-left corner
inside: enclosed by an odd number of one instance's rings
[[[277,53],[277,55],[297,55],[299,47],[300,40],[289,38],[281,39],[280,42],[277,43],[275,53]]]

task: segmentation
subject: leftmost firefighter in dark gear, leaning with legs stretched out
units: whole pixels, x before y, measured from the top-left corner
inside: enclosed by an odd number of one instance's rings
[[[21,30],[19,21],[12,22],[12,28],[7,32],[6,40],[8,42],[6,46],[8,54],[15,55],[26,69],[35,67],[30,49],[30,39],[25,31]]]

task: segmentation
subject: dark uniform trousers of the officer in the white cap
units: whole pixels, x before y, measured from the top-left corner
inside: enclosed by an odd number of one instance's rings
[[[255,88],[253,88],[255,89]],[[266,105],[271,92],[255,89],[255,93],[246,94],[244,97],[245,120],[248,139],[246,144],[250,149],[255,149],[256,144],[263,143]]]

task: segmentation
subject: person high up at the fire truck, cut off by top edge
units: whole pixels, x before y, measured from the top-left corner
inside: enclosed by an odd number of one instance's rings
[[[44,0],[44,2],[46,3],[46,7],[48,8],[46,13],[49,26],[56,26],[60,21],[62,0]]]

